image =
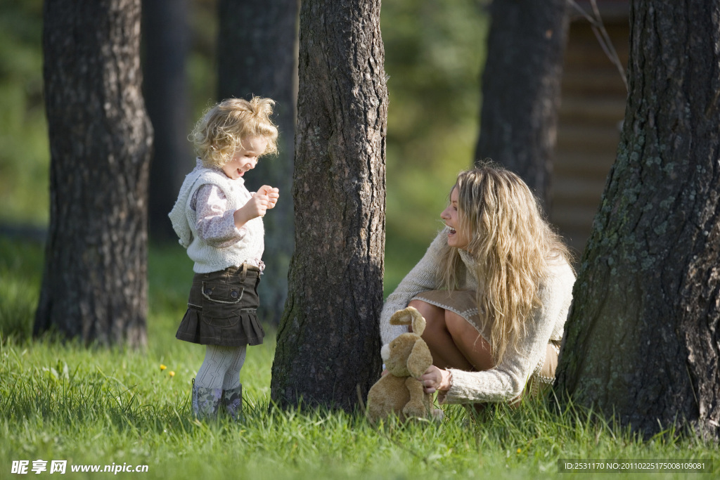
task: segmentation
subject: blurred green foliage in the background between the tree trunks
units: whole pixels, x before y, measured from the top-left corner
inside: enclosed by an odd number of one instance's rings
[[[423,255],[441,225],[439,214],[456,174],[474,160],[486,5],[485,0],[395,0],[382,6],[390,76],[386,295]],[[215,0],[191,0],[189,22],[194,121],[215,102]],[[8,226],[42,229],[48,224],[50,161],[42,0],[0,0],[0,110],[0,232]],[[184,255],[179,247],[168,248]]]

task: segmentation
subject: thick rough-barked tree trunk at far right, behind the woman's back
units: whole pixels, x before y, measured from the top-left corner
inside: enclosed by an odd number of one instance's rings
[[[646,435],[719,438],[720,4],[634,1],[630,43],[558,388]]]

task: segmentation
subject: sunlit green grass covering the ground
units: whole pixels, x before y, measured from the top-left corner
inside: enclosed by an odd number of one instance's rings
[[[442,422],[382,427],[360,414],[270,409],[272,332],[248,350],[241,372],[245,422],[196,422],[190,382],[204,352],[174,339],[186,295],[178,274],[183,255],[176,248],[150,250],[146,350],[82,348],[28,340],[42,248],[0,237],[0,479],[16,478],[14,461],[28,461],[28,475],[35,476],[37,460],[47,462],[42,476],[57,474],[49,473],[51,461],[67,461],[68,478],[102,478],[109,473],[71,468],[109,465],[148,466],[145,473],[117,474],[140,479],[514,479],[555,476],[563,458],[710,458],[714,476],[720,473],[716,445],[672,432],[641,441],[588,412],[544,403],[491,409],[474,419],[449,407]]]

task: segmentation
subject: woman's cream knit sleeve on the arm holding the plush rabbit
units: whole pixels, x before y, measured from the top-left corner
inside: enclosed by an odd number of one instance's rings
[[[564,325],[572,302],[575,275],[567,263],[554,268],[541,284],[541,306],[525,326],[525,335],[503,356],[503,361],[488,371],[469,372],[451,369],[452,386],[445,403],[504,402],[518,397],[539,364],[544,361],[547,344],[556,325]]]

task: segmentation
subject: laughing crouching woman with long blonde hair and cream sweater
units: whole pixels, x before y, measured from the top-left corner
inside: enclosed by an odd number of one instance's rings
[[[399,309],[426,318],[433,366],[420,377],[441,403],[517,402],[552,384],[575,274],[528,186],[503,168],[459,174],[446,227],[390,294],[383,343],[407,331]]]

